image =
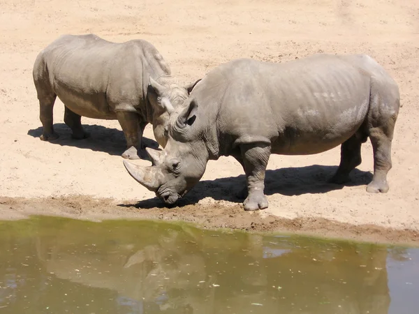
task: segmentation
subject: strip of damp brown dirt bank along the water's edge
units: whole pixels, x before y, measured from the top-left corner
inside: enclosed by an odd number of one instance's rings
[[[386,244],[419,245],[417,230],[397,230],[377,225],[350,225],[325,218],[281,218],[264,211],[247,212],[223,202],[208,205],[140,209],[135,202],[115,202],[88,196],[25,199],[0,197],[0,219],[15,220],[31,215],[63,216],[82,220],[156,219],[194,223],[208,229],[227,228],[247,232],[282,232],[318,237],[353,239]]]

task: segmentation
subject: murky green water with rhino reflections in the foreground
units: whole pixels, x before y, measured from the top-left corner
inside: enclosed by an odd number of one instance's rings
[[[149,221],[0,222],[0,313],[419,313],[419,250]]]

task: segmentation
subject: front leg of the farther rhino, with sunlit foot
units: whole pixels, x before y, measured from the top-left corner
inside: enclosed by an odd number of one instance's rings
[[[124,151],[122,157],[147,160],[147,152],[141,145],[142,132],[146,124],[140,123],[140,116],[135,112],[117,111],[117,119],[126,140],[126,151]]]

